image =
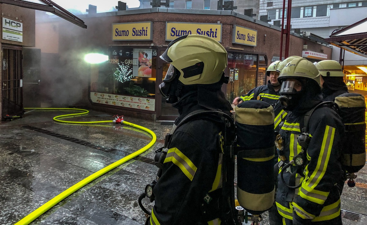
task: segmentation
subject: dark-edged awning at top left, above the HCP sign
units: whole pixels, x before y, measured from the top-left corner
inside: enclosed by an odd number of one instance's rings
[[[75,25],[80,26],[81,28],[87,28],[87,25],[84,24],[83,20],[50,0],[0,0],[0,3],[51,12]]]

